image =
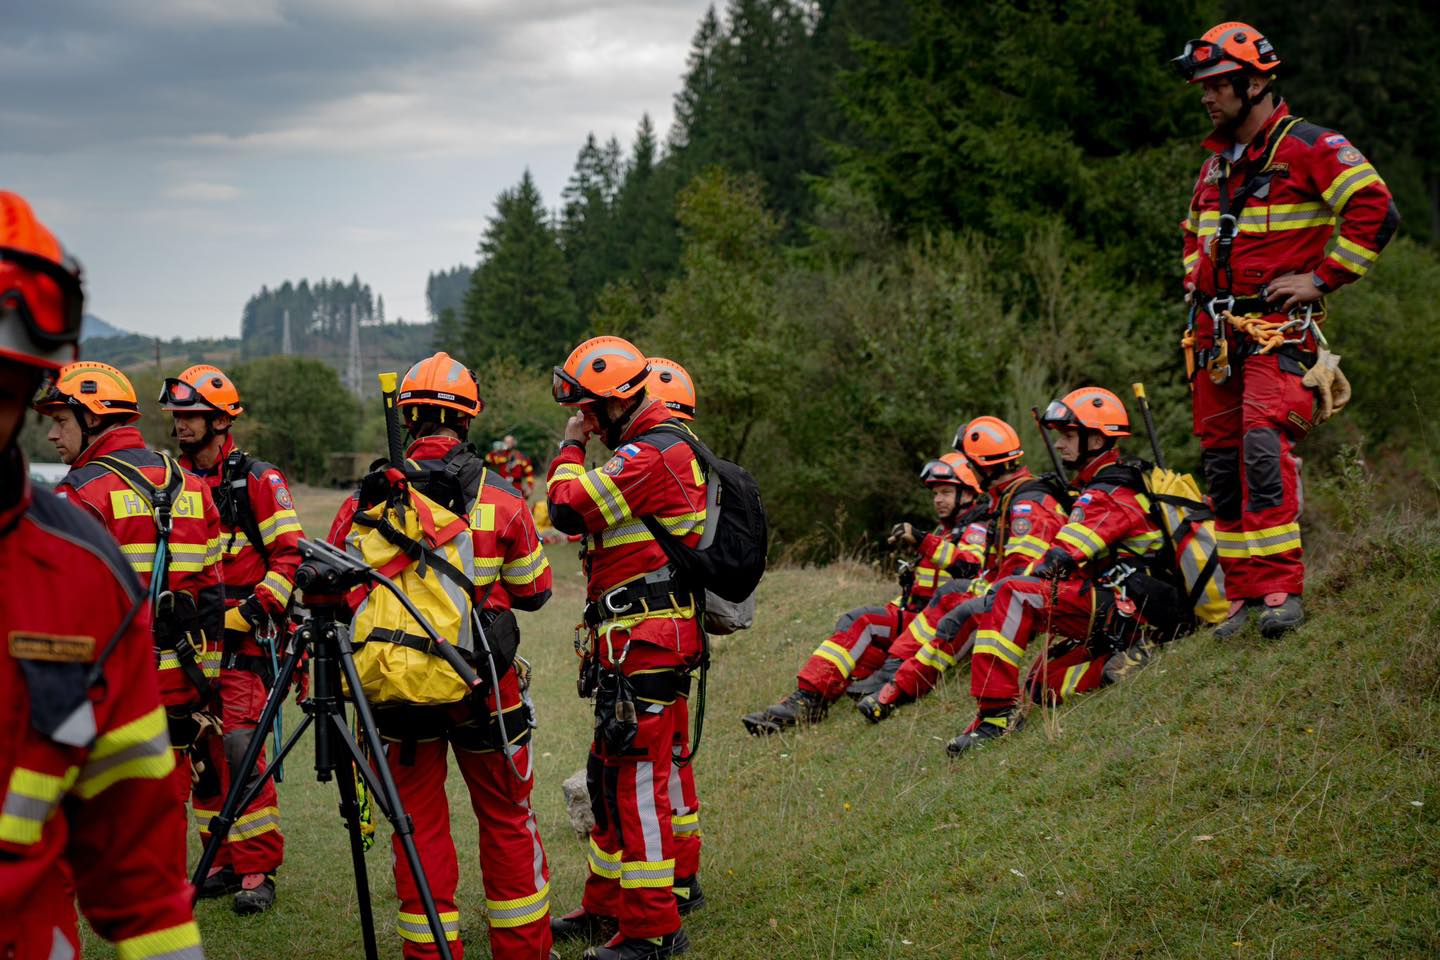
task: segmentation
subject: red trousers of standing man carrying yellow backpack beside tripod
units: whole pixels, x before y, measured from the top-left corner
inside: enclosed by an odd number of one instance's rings
[[[530,771],[528,727],[514,671],[500,678],[500,691],[505,707],[505,733],[514,744],[510,760],[521,774],[530,773],[528,779],[516,776],[503,751],[472,748],[480,746],[474,724],[451,727],[439,738],[397,741],[392,740],[395,731],[382,718],[379,723],[387,741],[384,757],[400,803],[415,823],[415,846],[455,960],[464,960],[465,946],[459,938],[459,910],[455,905],[459,865],[445,797],[446,754],[451,748],[480,822],[480,869],[490,924],[490,954],[495,960],[546,960],[550,954],[550,865],[530,806],[534,776]],[[492,699],[490,708],[494,714]],[[396,930],[403,940],[403,956],[406,960],[432,960],[439,950],[425,918],[415,875],[399,839],[392,838],[390,843],[395,889],[400,898]]]

